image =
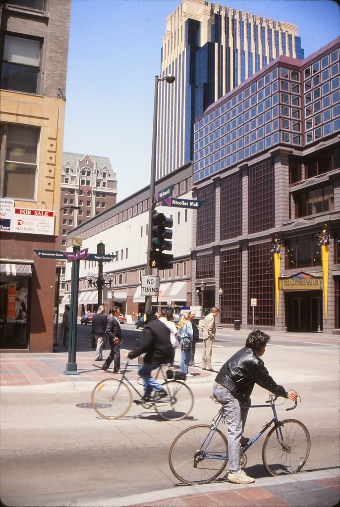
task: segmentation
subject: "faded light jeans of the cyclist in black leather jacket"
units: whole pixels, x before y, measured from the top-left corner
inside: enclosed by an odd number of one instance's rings
[[[213,394],[223,406],[225,422],[228,426],[227,441],[229,451],[228,470],[239,472],[241,459],[240,439],[246,424],[249,408],[241,408],[239,400],[231,394],[228,389],[214,382]],[[250,405],[251,400],[244,405]]]

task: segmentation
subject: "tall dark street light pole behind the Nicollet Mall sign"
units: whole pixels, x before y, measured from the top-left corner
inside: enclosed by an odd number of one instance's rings
[[[168,74],[163,78],[155,76],[155,95],[153,105],[153,128],[152,128],[152,152],[151,152],[151,177],[150,177],[150,205],[149,205],[149,225],[148,225],[148,250],[147,250],[147,261],[146,261],[146,273],[147,275],[152,274],[152,268],[150,268],[150,250],[152,240],[152,211],[155,209],[156,203],[154,202],[155,196],[155,179],[156,179],[156,151],[157,151],[157,115],[158,115],[158,83],[159,81],[166,81],[166,83],[174,83],[175,76]],[[146,296],[145,298],[145,312],[151,310],[151,298],[152,296]]]

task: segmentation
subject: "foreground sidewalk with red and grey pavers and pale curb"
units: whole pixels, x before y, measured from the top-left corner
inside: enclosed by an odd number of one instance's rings
[[[333,507],[340,496],[339,469],[300,472],[294,476],[266,477],[242,486],[214,482],[179,486],[102,502],[107,507]],[[135,503],[134,503],[135,502]],[[99,504],[98,504],[99,505]]]

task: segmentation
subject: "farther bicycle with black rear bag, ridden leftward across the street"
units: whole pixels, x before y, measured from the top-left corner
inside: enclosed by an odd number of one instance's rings
[[[101,380],[93,389],[91,394],[91,403],[95,412],[105,419],[119,419],[123,417],[130,409],[132,404],[132,393],[129,386],[143,398],[143,394],[136,389],[132,383],[126,378],[126,370],[122,370],[122,376],[119,379],[107,378]],[[131,365],[139,366],[141,365]],[[156,379],[162,374],[164,382],[163,389],[167,391],[167,395],[157,400],[156,393],[151,395],[151,401],[142,401],[141,405],[145,409],[154,408],[157,414],[166,421],[180,421],[187,417],[193,407],[193,394],[191,389],[181,380],[169,380],[163,371],[162,365],[159,366]]]

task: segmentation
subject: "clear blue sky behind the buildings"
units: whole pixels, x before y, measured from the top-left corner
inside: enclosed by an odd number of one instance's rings
[[[331,0],[216,2],[296,24],[305,57],[339,35]],[[63,151],[108,157],[117,201],[150,183],[153,93],[180,0],[72,0]]]

